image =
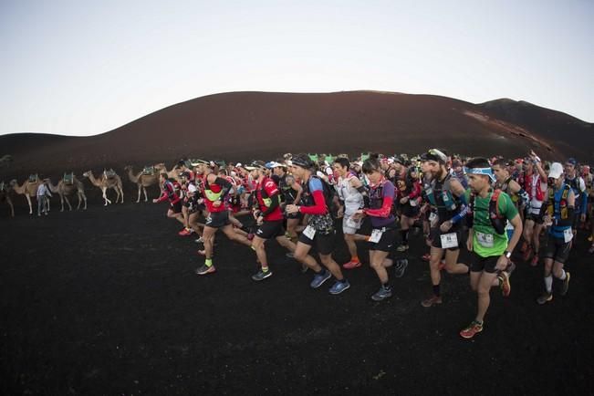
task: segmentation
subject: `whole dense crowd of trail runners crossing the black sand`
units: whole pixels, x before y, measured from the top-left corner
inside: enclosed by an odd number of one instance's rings
[[[203,245],[196,274],[216,271],[214,238],[221,230],[255,251],[255,281],[273,274],[266,242],[275,239],[303,272],[313,272],[310,287],[330,280],[329,293],[338,295],[350,287],[349,270],[361,266],[361,242],[380,283],[371,298],[382,301],[392,296],[391,276],[404,274],[409,239],[419,230],[426,249],[417,253],[429,262],[432,283],[422,307],[442,303],[442,270],[469,274],[477,313],[460,331],[465,339],[483,330],[492,287],[509,296],[515,251],[515,259],[544,265],[541,305],[553,299],[554,277],[558,294],[568,293],[564,267],[578,232],[589,234],[594,254],[592,173],[574,159],[544,163],[535,152],[512,161],[468,159],[432,149],[410,159],[371,154],[354,162],[307,154],[249,164],[185,160],[179,170],[175,179],[161,174],[162,195],[153,202],[169,201],[179,234]],[[342,243],[337,224],[350,255],[342,265],[333,258]],[[464,263],[461,247],[470,252]]]

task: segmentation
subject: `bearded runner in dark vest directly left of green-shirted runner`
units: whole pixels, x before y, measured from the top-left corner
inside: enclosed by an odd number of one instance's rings
[[[468,274],[468,266],[458,263],[460,255],[459,243],[462,241],[462,220],[467,208],[465,191],[460,182],[447,171],[447,156],[439,150],[432,149],[423,154],[427,172],[432,173],[429,188],[425,190],[431,204],[430,239],[432,297],[422,300],[422,307],[442,304],[440,264],[445,249],[445,270],[449,274]]]

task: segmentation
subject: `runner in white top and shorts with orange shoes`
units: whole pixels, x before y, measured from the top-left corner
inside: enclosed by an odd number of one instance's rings
[[[334,172],[338,175],[338,181],[334,186],[339,197],[338,217],[342,217],[342,234],[344,234],[344,240],[350,254],[350,261],[342,266],[346,269],[352,269],[361,266],[355,241],[367,240],[365,235],[357,234],[361,226],[361,220],[353,217],[353,215],[363,207],[363,197],[367,196],[369,200],[369,196],[357,175],[349,171],[349,159],[336,158],[333,167]]]

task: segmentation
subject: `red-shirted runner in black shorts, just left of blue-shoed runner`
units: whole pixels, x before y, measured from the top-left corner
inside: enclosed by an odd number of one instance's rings
[[[280,210],[280,190],[271,178],[266,176],[266,168],[261,166],[250,167],[250,173],[255,180],[255,208],[254,217],[258,225],[252,240],[252,249],[260,261],[260,270],[252,276],[255,281],[266,279],[272,276],[268,268],[268,260],[264,243],[267,239],[275,238],[278,245],[281,245],[291,253],[295,252],[296,245],[285,235],[283,228],[284,215]]]

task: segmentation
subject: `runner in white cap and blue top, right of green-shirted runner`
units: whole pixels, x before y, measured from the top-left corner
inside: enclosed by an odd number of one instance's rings
[[[571,250],[574,238],[571,226],[576,214],[576,195],[570,185],[565,182],[563,165],[554,162],[548,172],[548,201],[541,210],[545,224],[550,226],[547,234],[545,259],[545,293],[537,298],[540,305],[553,299],[553,276],[563,282],[559,294],[568,293],[570,275],[563,269]]]

